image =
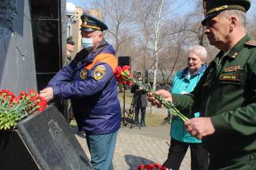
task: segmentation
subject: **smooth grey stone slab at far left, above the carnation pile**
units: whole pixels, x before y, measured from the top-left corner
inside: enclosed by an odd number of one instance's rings
[[[0,3],[0,89],[36,89],[29,0]]]

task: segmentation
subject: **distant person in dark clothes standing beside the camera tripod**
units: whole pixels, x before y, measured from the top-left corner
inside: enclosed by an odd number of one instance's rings
[[[139,76],[138,81],[141,81],[143,83],[142,78]],[[147,86],[147,85],[145,85]],[[133,85],[131,87],[131,93],[134,94],[134,106],[135,106],[135,118],[134,121],[137,124],[140,124],[141,127],[146,127],[145,124],[145,115],[146,115],[146,107],[148,106],[147,103],[147,94],[141,87],[138,87],[138,85]],[[141,119],[139,122],[139,112],[141,111]]]

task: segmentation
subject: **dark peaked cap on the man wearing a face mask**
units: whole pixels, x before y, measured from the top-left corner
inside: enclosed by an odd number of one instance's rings
[[[108,26],[104,24],[101,20],[92,17],[91,15],[84,14],[81,16],[82,25],[81,25],[81,31],[104,31],[108,29]]]

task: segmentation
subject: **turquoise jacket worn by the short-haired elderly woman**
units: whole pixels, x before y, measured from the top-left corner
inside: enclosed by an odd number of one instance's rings
[[[193,76],[188,75],[189,68],[186,67],[182,71],[178,71],[174,77],[171,91],[173,94],[185,94],[193,91],[196,84],[204,74],[206,69],[205,65],[202,65],[200,69],[193,74]],[[195,113],[195,117],[199,117],[200,113]],[[179,118],[175,117],[172,120],[170,136],[177,141],[186,143],[202,143],[202,141],[191,136],[184,127],[184,122]]]

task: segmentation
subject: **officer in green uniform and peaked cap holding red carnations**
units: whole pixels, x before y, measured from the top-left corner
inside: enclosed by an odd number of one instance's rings
[[[220,52],[190,94],[156,94],[189,117],[186,130],[203,140],[209,169],[256,169],[256,43],[245,32],[250,0],[204,1],[205,34]],[[148,94],[152,104],[161,104]]]

